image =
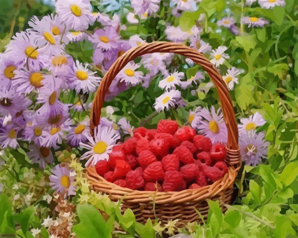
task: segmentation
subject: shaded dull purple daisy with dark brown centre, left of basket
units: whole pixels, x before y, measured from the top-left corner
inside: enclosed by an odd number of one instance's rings
[[[30,144],[29,150],[27,152],[28,158],[31,159],[32,163],[38,163],[40,168],[44,169],[47,164],[53,164],[54,156],[50,148]]]

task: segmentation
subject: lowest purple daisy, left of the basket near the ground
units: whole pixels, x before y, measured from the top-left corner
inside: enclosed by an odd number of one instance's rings
[[[50,175],[50,186],[60,193],[60,195],[66,199],[67,196],[76,195],[75,191],[75,178],[76,172],[69,168],[62,167],[61,164],[56,165],[52,169],[52,175]]]

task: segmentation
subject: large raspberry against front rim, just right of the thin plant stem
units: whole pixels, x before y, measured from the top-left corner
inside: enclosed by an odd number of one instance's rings
[[[178,171],[167,171],[164,176],[162,188],[164,191],[182,191],[185,189],[186,183]]]

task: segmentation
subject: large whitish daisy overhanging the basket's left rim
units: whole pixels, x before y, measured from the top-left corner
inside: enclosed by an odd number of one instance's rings
[[[89,137],[90,143],[80,143],[81,147],[89,149],[80,159],[88,160],[85,164],[86,167],[94,167],[98,161],[108,160],[109,154],[119,138],[119,133],[113,128],[97,126],[94,130],[94,139]]]

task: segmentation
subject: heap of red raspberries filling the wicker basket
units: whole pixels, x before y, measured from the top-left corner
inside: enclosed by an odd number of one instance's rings
[[[212,145],[176,121],[162,120],[157,129],[139,127],[134,136],[113,147],[109,161],[95,168],[106,181],[140,191],[197,189],[222,178],[228,171],[226,147]]]

